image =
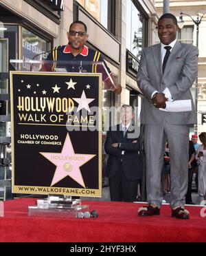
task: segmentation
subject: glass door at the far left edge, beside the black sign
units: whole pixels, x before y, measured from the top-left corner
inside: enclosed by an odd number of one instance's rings
[[[0,39],[0,200],[11,198],[9,39]]]

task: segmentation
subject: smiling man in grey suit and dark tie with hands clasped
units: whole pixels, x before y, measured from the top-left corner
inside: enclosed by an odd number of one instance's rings
[[[144,125],[148,206],[139,216],[159,215],[163,200],[161,171],[165,140],[170,147],[170,195],[172,217],[189,219],[184,208],[188,180],[189,126],[196,122],[190,87],[198,74],[197,47],[176,40],[176,17],[163,14],[158,21],[161,43],[142,50],[137,83],[144,94]],[[168,102],[191,100],[192,111],[162,111]],[[161,109],[160,109],[161,108]]]

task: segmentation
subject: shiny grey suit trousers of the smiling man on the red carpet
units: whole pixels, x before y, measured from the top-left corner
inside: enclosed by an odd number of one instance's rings
[[[161,207],[163,200],[161,173],[165,140],[170,149],[170,205],[172,208],[185,205],[188,182],[188,125],[145,125],[146,183],[148,203]]]

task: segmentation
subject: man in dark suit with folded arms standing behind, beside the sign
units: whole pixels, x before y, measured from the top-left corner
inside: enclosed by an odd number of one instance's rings
[[[139,138],[132,125],[134,109],[122,105],[122,123],[110,127],[105,141],[108,154],[105,175],[109,178],[111,201],[133,202],[137,197],[137,186],[141,179]]]

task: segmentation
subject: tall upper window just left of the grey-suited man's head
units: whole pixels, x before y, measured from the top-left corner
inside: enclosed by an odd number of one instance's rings
[[[132,0],[126,1],[126,48],[138,59],[143,44],[144,18]]]

